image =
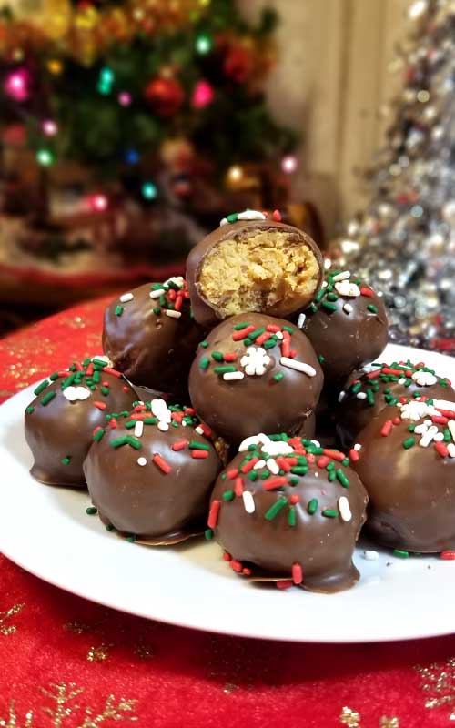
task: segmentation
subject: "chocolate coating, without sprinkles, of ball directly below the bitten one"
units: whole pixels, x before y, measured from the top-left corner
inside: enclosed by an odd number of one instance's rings
[[[281,349],[276,346],[267,350],[270,362],[262,376],[249,376],[227,381],[217,374],[215,368],[230,362],[214,360],[212,352],[235,353],[233,363],[238,371],[244,371],[240,364],[248,347],[243,340],[234,341],[232,336],[239,323],[248,322],[255,329],[268,325],[289,327],[284,319],[273,319],[258,313],[241,314],[223,321],[207,336],[207,347],[199,346],[197,357],[189,375],[189,394],[197,414],[217,435],[227,442],[238,443],[256,432],[287,431],[295,433],[308,420],[316,407],[322,388],[323,375],[318,358],[307,337],[293,329],[290,348],[296,349],[295,359],[309,364],[316,370],[316,376],[289,369],[280,363]],[[253,344],[253,346],[256,346]],[[202,369],[204,359],[209,359],[207,369]],[[283,374],[280,381],[274,376]]]

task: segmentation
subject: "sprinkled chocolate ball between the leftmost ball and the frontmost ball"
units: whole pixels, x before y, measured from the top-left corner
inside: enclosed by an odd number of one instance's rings
[[[221,462],[194,410],[164,399],[136,406],[99,430],[84,470],[109,527],[141,540],[182,541],[203,531]]]

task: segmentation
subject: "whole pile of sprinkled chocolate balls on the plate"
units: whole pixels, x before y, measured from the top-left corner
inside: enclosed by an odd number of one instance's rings
[[[32,474],[86,483],[88,511],[130,541],[204,533],[280,588],[354,584],[364,523],[400,554],[449,558],[455,393],[423,362],[371,364],[387,339],[368,282],[277,211],[229,215],[186,278],[112,302],[104,358],[35,389]]]

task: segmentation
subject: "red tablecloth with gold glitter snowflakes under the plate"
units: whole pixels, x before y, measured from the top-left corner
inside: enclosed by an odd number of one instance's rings
[[[103,305],[0,341],[2,399],[100,353]],[[132,720],[140,728],[440,728],[455,720],[452,655],[455,636],[319,646],[192,632],[86,602],[0,555],[0,726],[8,728]]]

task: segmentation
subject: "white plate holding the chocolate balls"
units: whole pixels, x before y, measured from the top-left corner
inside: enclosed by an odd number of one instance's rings
[[[391,346],[381,357],[424,359],[455,379],[455,359]],[[45,581],[124,612],[212,632],[295,642],[380,642],[455,632],[455,562],[401,560],[389,552],[355,561],[359,584],[335,595],[248,584],[214,542],[147,548],[86,515],[84,492],[29,475],[25,389],[0,408],[0,551]],[[455,514],[454,514],[455,517]],[[364,545],[364,544],[363,544]]]

